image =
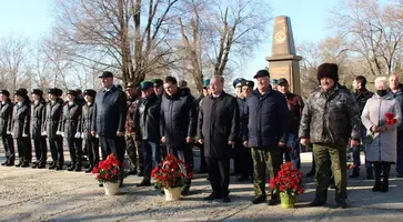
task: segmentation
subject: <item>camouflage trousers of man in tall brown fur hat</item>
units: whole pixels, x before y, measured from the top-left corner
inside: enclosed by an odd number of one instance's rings
[[[316,199],[325,201],[329,188],[329,167],[334,176],[335,200],[347,198],[346,180],[346,149],[328,144],[313,144],[313,154],[316,164],[315,182]],[[331,164],[332,163],[332,164]]]

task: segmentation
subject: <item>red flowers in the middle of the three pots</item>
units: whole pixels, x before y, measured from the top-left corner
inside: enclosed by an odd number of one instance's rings
[[[181,188],[183,179],[192,178],[193,173],[190,167],[172,154],[168,154],[165,160],[159,163],[151,172],[151,176],[155,179],[155,188],[171,189]]]

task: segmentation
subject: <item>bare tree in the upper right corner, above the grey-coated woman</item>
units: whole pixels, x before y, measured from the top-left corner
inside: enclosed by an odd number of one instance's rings
[[[365,62],[369,73],[393,72],[402,59],[402,1],[383,7],[377,0],[345,1],[332,11],[331,20],[331,27],[347,40],[352,56]]]

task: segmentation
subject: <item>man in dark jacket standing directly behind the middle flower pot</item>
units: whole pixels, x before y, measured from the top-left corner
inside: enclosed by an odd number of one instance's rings
[[[192,142],[197,131],[195,99],[187,89],[179,89],[173,77],[164,80],[165,92],[161,102],[161,141],[167,145],[167,152],[184,161],[193,169]],[[185,180],[182,195],[189,194],[191,179]]]

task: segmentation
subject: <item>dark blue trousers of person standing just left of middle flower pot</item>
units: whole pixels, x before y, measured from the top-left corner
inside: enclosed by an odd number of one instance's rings
[[[160,142],[143,140],[141,148],[143,151],[144,180],[150,182],[152,167],[157,167],[161,162]]]

